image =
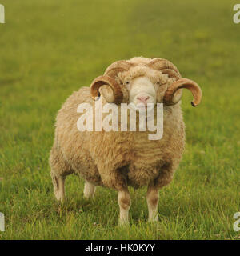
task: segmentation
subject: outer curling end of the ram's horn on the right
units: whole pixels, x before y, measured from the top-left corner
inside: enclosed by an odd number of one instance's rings
[[[166,105],[174,105],[179,102],[181,94],[178,94],[178,89],[186,88],[191,91],[194,100],[191,102],[192,106],[198,106],[202,98],[202,90],[198,84],[190,79],[181,78],[173,82],[166,90],[163,97],[163,103]]]

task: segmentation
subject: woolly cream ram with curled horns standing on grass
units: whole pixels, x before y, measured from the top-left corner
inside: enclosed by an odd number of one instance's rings
[[[182,158],[185,125],[182,118],[182,88],[189,89],[198,106],[202,90],[182,78],[176,66],[163,58],[134,57],[112,63],[90,87],[75,91],[58,111],[54,145],[50,151],[51,178],[58,201],[65,199],[64,182],[69,174],[85,180],[84,198],[93,198],[96,186],[118,191],[119,224],[129,222],[130,192],[147,186],[149,221],[158,221],[158,190],[168,185]],[[95,106],[97,98],[134,105],[163,103],[162,139],[149,140],[147,132],[84,131],[77,129],[78,105]]]

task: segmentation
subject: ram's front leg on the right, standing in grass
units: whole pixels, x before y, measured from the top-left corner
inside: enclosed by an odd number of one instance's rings
[[[158,222],[158,189],[154,187],[153,183],[147,188],[146,202],[148,206],[150,222]]]

